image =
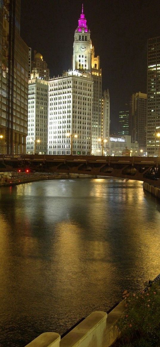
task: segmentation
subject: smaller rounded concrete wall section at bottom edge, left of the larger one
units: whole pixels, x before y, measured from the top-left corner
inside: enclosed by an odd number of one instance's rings
[[[44,332],[26,347],[59,347],[60,335],[56,332]]]

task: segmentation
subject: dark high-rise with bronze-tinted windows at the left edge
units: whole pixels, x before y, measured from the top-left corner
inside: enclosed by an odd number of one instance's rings
[[[20,0],[0,0],[1,152],[26,152],[28,46],[20,37]]]

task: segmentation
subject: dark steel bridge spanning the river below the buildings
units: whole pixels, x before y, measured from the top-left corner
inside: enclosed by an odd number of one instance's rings
[[[160,186],[159,157],[0,154],[0,172],[19,170],[119,177]]]

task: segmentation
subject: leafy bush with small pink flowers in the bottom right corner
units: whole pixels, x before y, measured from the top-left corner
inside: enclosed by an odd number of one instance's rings
[[[160,286],[152,283],[146,292],[129,294],[124,291],[125,314],[117,323],[121,332],[116,346],[160,346]]]

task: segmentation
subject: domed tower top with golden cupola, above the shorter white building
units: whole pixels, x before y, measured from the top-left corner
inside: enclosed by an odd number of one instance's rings
[[[34,51],[34,60],[31,62],[31,70],[37,70],[39,78],[49,80],[49,69],[47,63],[43,60],[42,54]]]

